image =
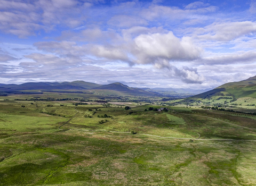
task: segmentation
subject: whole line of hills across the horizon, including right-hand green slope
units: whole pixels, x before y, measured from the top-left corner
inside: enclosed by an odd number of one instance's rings
[[[0,95],[4,94],[38,94],[42,91],[82,92],[86,90],[108,90],[113,95],[121,92],[131,96],[169,96],[186,98],[189,100],[220,99],[229,97],[233,100],[242,97],[256,98],[256,76],[239,82],[229,82],[215,89],[193,90],[175,88],[132,88],[116,82],[110,84],[97,84],[85,81],[73,82],[28,82],[23,84],[0,84]],[[196,94],[196,95],[195,95]]]

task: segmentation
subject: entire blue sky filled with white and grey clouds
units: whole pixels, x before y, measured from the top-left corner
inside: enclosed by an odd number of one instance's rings
[[[207,89],[255,75],[255,0],[0,0],[0,84]]]

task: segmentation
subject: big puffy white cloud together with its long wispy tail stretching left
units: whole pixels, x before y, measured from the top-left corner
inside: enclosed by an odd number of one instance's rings
[[[148,31],[141,27],[137,29]],[[78,46],[71,41],[38,42],[34,45],[38,49],[60,55],[83,57],[86,52],[95,57],[104,57],[130,64],[153,64],[158,68],[169,66],[170,61],[194,61],[201,56],[202,52],[202,49],[195,46],[189,37],[179,39],[172,32],[141,34],[135,38],[127,37],[126,34],[125,38],[119,38],[119,43],[106,45]]]

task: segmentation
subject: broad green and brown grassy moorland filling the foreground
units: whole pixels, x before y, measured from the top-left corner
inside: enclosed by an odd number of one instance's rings
[[[74,103],[0,101],[0,185],[256,184],[255,115]]]

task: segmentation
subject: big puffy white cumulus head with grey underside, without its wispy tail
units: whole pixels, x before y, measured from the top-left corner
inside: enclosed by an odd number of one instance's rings
[[[168,61],[193,61],[200,57],[201,49],[188,37],[179,39],[170,31],[166,34],[140,35],[134,39],[132,54],[139,64],[162,64]]]

